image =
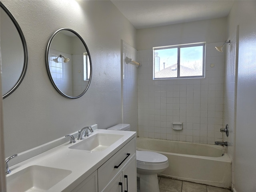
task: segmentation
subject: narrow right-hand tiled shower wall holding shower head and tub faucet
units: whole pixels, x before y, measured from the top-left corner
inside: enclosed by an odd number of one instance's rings
[[[235,125],[236,125],[236,32],[230,37],[230,45],[226,46],[226,70],[224,86],[224,125],[228,124],[229,135],[224,135],[228,141],[228,155],[234,162]],[[232,185],[234,185],[234,163],[232,163]]]

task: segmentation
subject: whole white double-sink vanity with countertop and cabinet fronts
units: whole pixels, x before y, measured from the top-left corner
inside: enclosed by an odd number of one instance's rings
[[[136,192],[136,132],[93,126],[90,137],[76,143],[61,137],[18,154],[6,176],[8,192],[20,186],[42,192],[126,192],[128,186]]]

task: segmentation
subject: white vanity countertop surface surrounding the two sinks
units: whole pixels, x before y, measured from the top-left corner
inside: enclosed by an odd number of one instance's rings
[[[66,142],[42,154],[11,166],[10,170],[12,172],[8,174],[7,177],[32,165],[70,170],[72,171],[71,174],[47,190],[47,192],[71,191],[136,136],[136,132],[105,129],[96,129],[93,133],[90,133],[90,136],[97,133],[121,134],[124,136],[100,152],[69,148],[78,142],[85,141],[86,138],[84,138],[84,140],[76,139],[76,143],[73,144]]]

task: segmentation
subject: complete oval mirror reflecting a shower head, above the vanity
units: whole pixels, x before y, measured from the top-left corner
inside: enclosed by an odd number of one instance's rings
[[[82,37],[68,28],[56,31],[47,46],[46,68],[52,85],[62,96],[81,97],[92,77],[90,53]]]

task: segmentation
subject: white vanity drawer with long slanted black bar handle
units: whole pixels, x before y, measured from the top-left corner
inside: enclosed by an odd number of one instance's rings
[[[107,160],[100,168],[98,168],[98,190],[102,192],[106,186],[115,179],[122,171],[124,165],[132,159],[136,153],[135,138],[121,148],[109,160]],[[130,155],[128,155],[130,154]]]

